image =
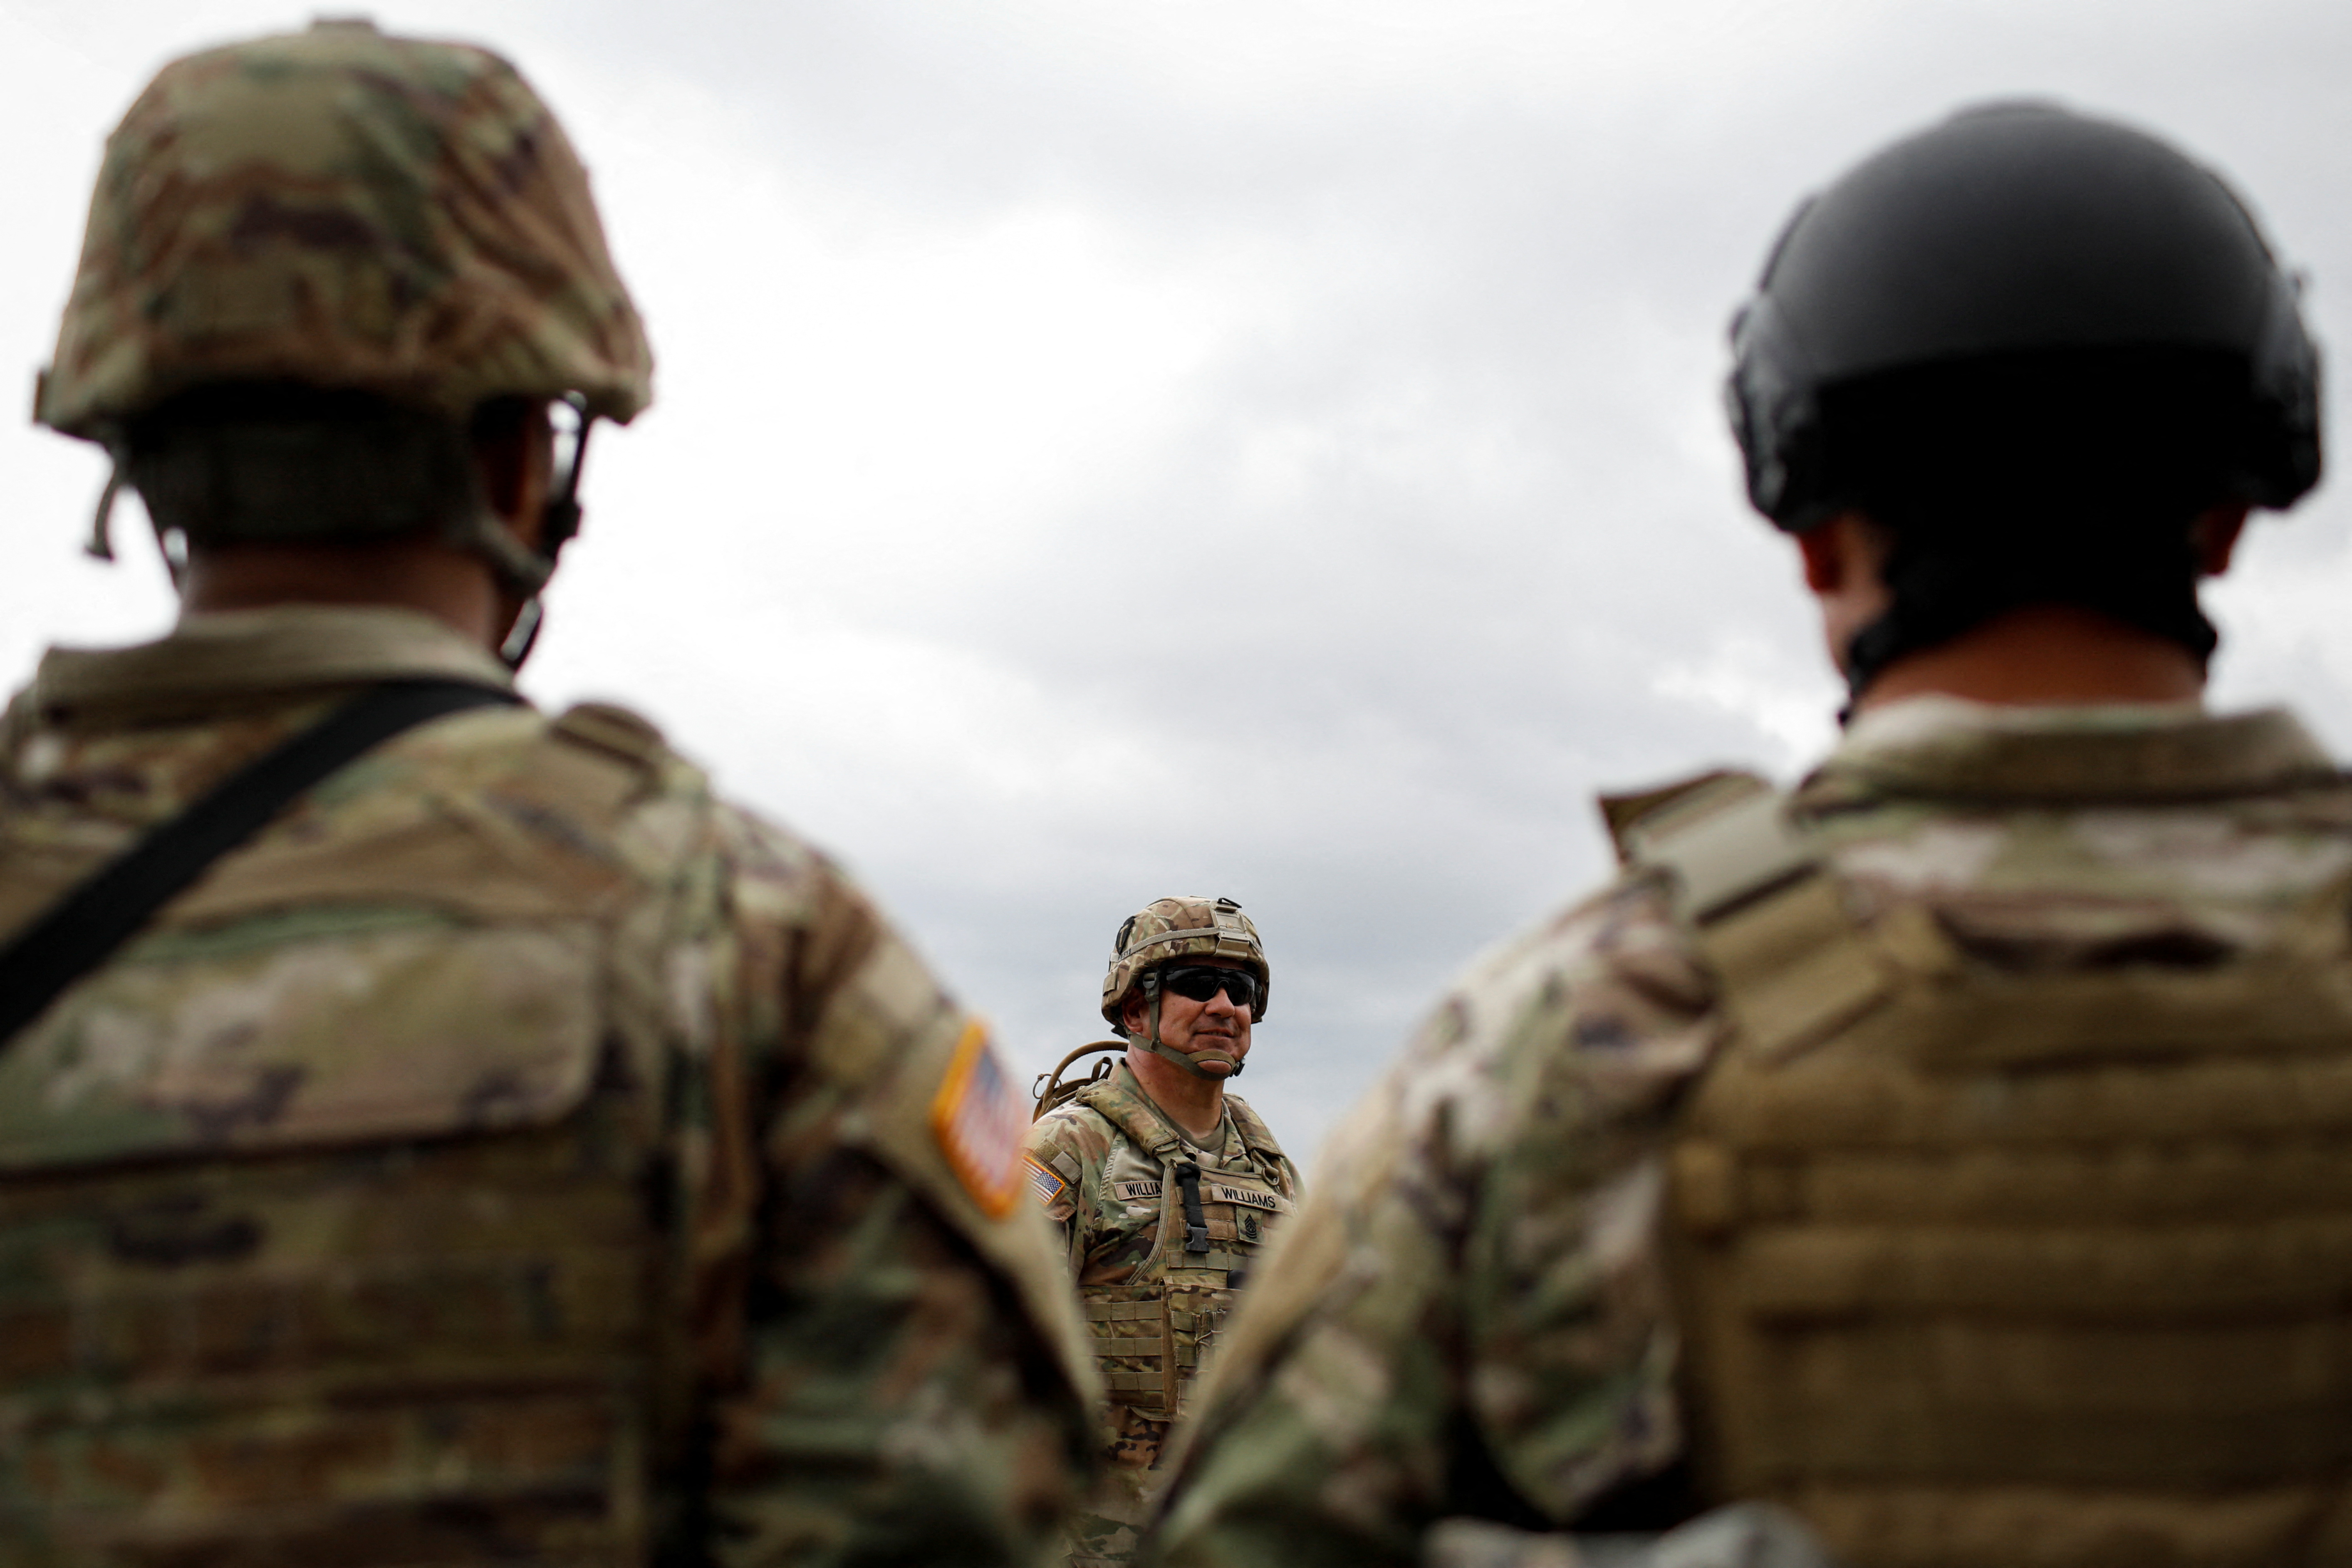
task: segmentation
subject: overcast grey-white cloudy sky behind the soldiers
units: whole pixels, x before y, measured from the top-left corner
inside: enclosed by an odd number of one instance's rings
[[[572,129],[659,357],[524,686],[623,698],[835,851],[1023,1072],[1141,903],[1275,964],[1310,1152],[1479,947],[1606,872],[1590,795],[1795,776],[1837,689],[1745,510],[1724,322],[1780,221],[1987,96],[2161,129],[2352,341],[2343,0],[463,0]],[[0,388],[99,143],[249,0],[0,0]],[[2343,423],[2331,437],[2345,451]],[[103,468],[0,425],[0,677],[160,632]],[[2218,696],[2352,750],[2343,487],[2213,595]]]

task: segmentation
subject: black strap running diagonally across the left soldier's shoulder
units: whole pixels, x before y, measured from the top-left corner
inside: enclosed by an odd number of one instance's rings
[[[520,701],[513,691],[477,682],[388,682],[238,769],[49,905],[0,950],[0,1041],[40,1018],[68,985],[103,964],[214,860],[261,832],[296,795],[360,752],[426,719]]]

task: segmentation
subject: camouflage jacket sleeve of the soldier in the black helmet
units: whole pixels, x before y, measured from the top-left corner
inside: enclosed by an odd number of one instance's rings
[[[1418,1563],[1435,1519],[1566,1523],[1679,1455],[1651,1218],[1708,1001],[1656,882],[1472,969],[1242,1302],[1167,1563]]]

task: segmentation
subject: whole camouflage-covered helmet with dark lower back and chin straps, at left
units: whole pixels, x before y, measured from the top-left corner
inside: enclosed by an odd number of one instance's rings
[[[120,484],[174,552],[433,529],[515,599],[520,658],[588,421],[628,423],[652,374],[588,174],[515,68],[322,21],[132,103],[33,411],[115,461],[92,552]],[[572,458],[517,541],[468,447],[543,404]]]

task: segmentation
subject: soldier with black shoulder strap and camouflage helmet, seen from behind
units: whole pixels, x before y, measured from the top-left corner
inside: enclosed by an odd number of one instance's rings
[[[38,414],[181,621],[0,722],[0,1561],[1011,1566],[1080,1497],[988,1032],[652,722],[513,693],[550,404],[649,364],[485,49],[209,49],[108,141]]]

